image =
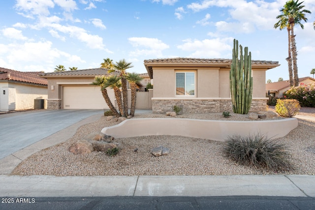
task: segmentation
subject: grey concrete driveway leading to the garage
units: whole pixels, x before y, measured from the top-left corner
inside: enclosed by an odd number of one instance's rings
[[[39,110],[0,116],[0,159],[103,110]]]

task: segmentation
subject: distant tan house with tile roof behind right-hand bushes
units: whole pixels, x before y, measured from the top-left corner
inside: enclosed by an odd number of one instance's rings
[[[299,84],[308,85],[310,83],[315,83],[315,79],[312,77],[303,77],[299,78]],[[266,95],[269,95],[281,98],[286,90],[290,89],[290,81],[284,80],[280,82],[267,83],[266,84]]]

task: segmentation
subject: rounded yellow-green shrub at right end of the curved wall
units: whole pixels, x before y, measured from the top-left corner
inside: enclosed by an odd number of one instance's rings
[[[295,99],[278,99],[275,111],[284,118],[292,118],[295,116],[301,106],[298,100]]]

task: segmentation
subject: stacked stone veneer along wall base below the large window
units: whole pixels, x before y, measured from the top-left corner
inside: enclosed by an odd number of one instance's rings
[[[166,113],[175,105],[183,113],[233,112],[231,99],[152,99],[152,112]],[[267,111],[267,99],[252,99],[250,112],[259,111]]]

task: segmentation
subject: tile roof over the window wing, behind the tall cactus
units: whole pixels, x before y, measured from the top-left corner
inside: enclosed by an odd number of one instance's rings
[[[171,58],[144,60],[144,63],[230,63],[232,59],[194,59],[194,58]],[[278,64],[278,61],[252,60],[252,64]]]

